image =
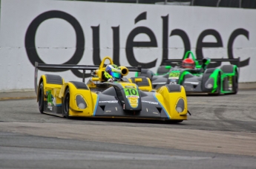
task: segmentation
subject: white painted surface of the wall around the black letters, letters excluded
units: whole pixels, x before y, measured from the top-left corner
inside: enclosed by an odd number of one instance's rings
[[[78,21],[85,37],[85,51],[79,64],[93,64],[93,29],[99,27],[100,57],[113,57],[113,30],[119,27],[119,61],[129,66],[125,48],[128,35],[137,27],[147,27],[154,33],[157,46],[134,47],[138,62],[148,63],[157,59],[151,69],[156,71],[163,57],[163,18],[167,18],[168,58],[182,58],[184,44],[180,36],[171,35],[182,30],[188,35],[191,50],[196,51],[197,40],[205,30],[214,30],[220,35],[223,46],[205,47],[203,56],[228,58],[228,43],[232,32],[243,29],[245,35],[237,35],[233,43],[234,58],[241,61],[250,58],[249,65],[240,69],[240,82],[256,81],[256,10],[188,7],[154,4],[118,4],[88,1],[40,1],[1,0],[0,23],[0,92],[7,90],[33,89],[34,67],[25,48],[25,35],[33,19],[51,10],[59,10]],[[135,22],[141,13],[146,18]],[[134,41],[150,41],[148,35],[139,34]],[[203,42],[216,43],[212,35]],[[36,30],[36,51],[45,63],[65,63],[76,51],[76,32],[61,18],[50,18]],[[39,72],[43,74],[45,72]],[[72,72],[61,72],[66,80],[78,79]]]

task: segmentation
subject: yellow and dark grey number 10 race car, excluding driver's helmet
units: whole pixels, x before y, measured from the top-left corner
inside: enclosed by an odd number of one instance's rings
[[[186,92],[180,85],[165,85],[153,90],[147,77],[125,78],[128,72],[140,72],[140,67],[119,66],[122,78],[108,82],[104,78],[105,57],[99,66],[35,64],[35,90],[39,111],[62,117],[108,117],[148,120],[170,120],[180,123],[190,114]],[[38,70],[91,70],[92,77],[85,83],[65,80],[59,75],[42,75]]]

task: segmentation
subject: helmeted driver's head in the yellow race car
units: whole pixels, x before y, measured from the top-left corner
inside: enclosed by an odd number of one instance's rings
[[[108,64],[105,67],[104,77],[109,82],[119,81],[122,77],[121,69],[119,68],[119,66],[116,66],[115,64]]]

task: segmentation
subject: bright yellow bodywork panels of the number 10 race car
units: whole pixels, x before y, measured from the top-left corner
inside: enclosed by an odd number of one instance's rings
[[[104,79],[102,79],[102,73],[105,71],[105,61],[109,60],[111,64],[113,64],[113,61],[109,57],[105,57],[102,60],[102,63],[99,66],[99,69],[96,69],[94,72],[95,75],[91,77],[90,80],[88,80],[87,86],[88,89],[79,89],[77,88],[72,82],[65,82],[62,78],[62,84],[52,84],[47,83],[46,75],[42,75],[39,79],[39,84],[43,83],[43,90],[44,90],[44,101],[49,100],[49,97],[47,97],[47,94],[51,94],[51,97],[53,99],[53,102],[50,104],[53,104],[53,106],[61,106],[64,102],[65,92],[69,89],[70,92],[70,101],[69,101],[69,116],[70,117],[93,117],[96,113],[96,106],[99,102],[99,95],[95,92],[92,92],[91,89],[96,87],[97,81],[104,82]],[[128,69],[125,66],[120,66],[122,70],[122,75],[128,75]],[[187,98],[186,98],[186,92],[183,86],[180,86],[180,91],[177,92],[169,92],[167,86],[162,86],[160,89],[157,89],[157,91],[152,91],[151,81],[148,80],[148,86],[137,86],[137,83],[142,82],[141,77],[135,77],[134,82],[131,83],[131,79],[129,79],[129,82],[116,82],[119,83],[122,86],[122,89],[124,91],[129,92],[130,89],[140,89],[145,92],[150,92],[149,95],[153,95],[153,100],[157,100],[157,103],[163,107],[165,114],[167,115],[169,120],[187,120],[187,113],[188,113],[188,106],[187,106]],[[144,81],[145,82],[145,81]],[[111,84],[111,83],[110,83]],[[171,87],[171,86],[170,86]],[[39,89],[38,89],[39,93]],[[137,92],[139,93],[139,92]],[[37,100],[39,100],[39,94]],[[85,100],[86,108],[79,108],[76,103],[76,96],[80,95],[83,100]],[[139,95],[132,95],[127,96],[127,100],[132,108],[137,108],[140,100],[142,98],[139,97]],[[180,99],[184,100],[184,108],[182,112],[177,111],[177,103]],[[145,102],[151,102],[146,101]],[[152,101],[152,103],[156,103]],[[150,103],[149,103],[150,104]],[[63,107],[63,106],[62,106]],[[148,109],[147,109],[148,111]],[[122,117],[120,117],[122,118]],[[152,117],[153,119],[154,117]]]

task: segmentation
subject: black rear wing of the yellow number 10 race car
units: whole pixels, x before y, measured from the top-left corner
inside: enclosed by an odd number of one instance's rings
[[[34,86],[35,92],[37,94],[38,84],[37,84],[37,77],[38,77],[38,70],[47,70],[50,72],[50,69],[61,69],[62,71],[72,70],[72,69],[79,69],[82,70],[82,82],[85,82],[85,71],[86,70],[96,70],[99,69],[101,66],[96,65],[76,65],[76,64],[45,64],[45,63],[35,63],[35,78],[34,78]],[[129,72],[141,72],[141,66],[125,66]]]

